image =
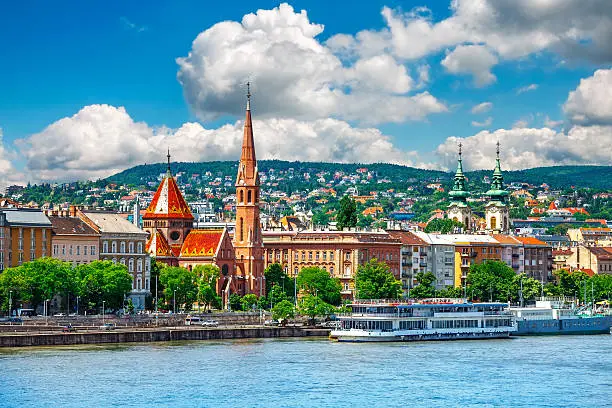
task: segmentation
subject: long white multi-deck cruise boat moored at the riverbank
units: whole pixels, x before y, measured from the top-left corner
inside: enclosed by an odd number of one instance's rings
[[[470,303],[466,299],[420,302],[358,300],[340,316],[337,341],[421,341],[509,337],[516,325],[506,303]]]

